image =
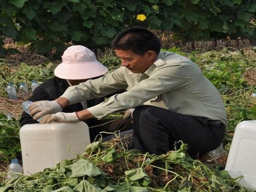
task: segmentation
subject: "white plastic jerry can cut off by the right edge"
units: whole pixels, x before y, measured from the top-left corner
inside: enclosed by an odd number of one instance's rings
[[[240,184],[256,189],[256,120],[236,126],[225,170],[233,178],[244,176]]]

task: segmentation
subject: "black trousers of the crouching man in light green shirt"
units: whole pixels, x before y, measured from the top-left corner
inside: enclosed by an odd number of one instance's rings
[[[166,154],[174,143],[188,144],[188,154],[200,155],[214,150],[224,138],[220,120],[179,114],[156,106],[143,105],[133,112],[135,149],[141,153]]]

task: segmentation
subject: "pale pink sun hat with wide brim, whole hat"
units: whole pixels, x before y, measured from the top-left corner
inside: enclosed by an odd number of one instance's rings
[[[55,76],[62,79],[78,80],[101,76],[108,71],[95,57],[94,52],[81,46],[70,46],[62,55],[62,63],[55,70]]]

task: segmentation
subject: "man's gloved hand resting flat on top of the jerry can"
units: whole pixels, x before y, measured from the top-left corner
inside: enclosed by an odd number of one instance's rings
[[[58,112],[52,115],[45,115],[40,121],[40,124],[52,123],[52,122],[75,123],[79,121],[80,119],[78,118],[78,116],[76,116],[76,112],[73,112],[73,113]]]

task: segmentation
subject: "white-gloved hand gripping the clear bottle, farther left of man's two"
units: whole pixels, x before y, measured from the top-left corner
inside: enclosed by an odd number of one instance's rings
[[[32,116],[34,120],[37,120],[46,114],[54,114],[62,111],[58,102],[46,100],[33,102],[28,109],[30,116]]]

